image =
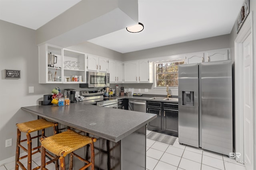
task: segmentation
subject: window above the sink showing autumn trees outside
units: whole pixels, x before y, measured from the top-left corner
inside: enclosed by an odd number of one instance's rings
[[[156,64],[156,87],[178,87],[178,65],[180,62],[166,62]]]

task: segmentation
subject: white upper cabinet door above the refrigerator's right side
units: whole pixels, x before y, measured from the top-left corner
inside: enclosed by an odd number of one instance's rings
[[[204,55],[205,61],[221,61],[229,60],[229,49],[218,49],[212,51],[206,51]]]

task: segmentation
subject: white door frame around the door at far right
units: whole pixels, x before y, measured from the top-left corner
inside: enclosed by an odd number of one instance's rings
[[[234,47],[235,47],[235,141],[236,141],[236,150],[235,152],[240,152],[241,156],[238,158],[236,156],[236,161],[238,162],[244,162],[244,115],[243,115],[243,42],[248,37],[248,35],[251,34],[252,36],[252,60],[253,60],[253,80],[252,80],[252,86],[253,89],[253,113],[255,113],[255,62],[254,59],[254,35],[253,35],[253,23],[252,23],[252,12],[248,15],[246,18],[243,27],[240,29],[235,41],[234,41]],[[254,147],[254,160],[255,160],[255,114],[253,115],[253,147]],[[255,167],[255,162],[254,162]]]

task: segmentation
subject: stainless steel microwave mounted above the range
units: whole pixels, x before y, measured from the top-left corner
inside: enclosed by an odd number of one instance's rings
[[[80,88],[96,88],[109,86],[109,73],[106,72],[86,72],[86,84],[80,84]]]

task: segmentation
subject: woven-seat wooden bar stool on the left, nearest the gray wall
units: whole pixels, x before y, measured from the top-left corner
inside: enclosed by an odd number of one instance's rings
[[[23,170],[31,170],[32,155],[37,152],[40,152],[39,149],[41,148],[41,146],[32,148],[32,139],[39,138],[39,137],[46,138],[46,136],[44,135],[44,129],[48,128],[48,127],[53,127],[54,134],[56,134],[57,133],[56,126],[58,126],[58,123],[46,121],[46,119],[42,118],[42,119],[38,119],[38,120],[34,120],[34,121],[17,123],[16,126],[18,128],[17,128],[17,142],[16,142],[16,155],[15,155],[15,170],[18,170],[19,166]],[[40,130],[42,130],[42,134],[31,137],[30,133],[32,133],[34,131],[40,131]],[[20,140],[21,132],[26,133],[27,139]],[[27,142],[28,149],[26,149],[25,147],[23,147],[21,145],[21,143],[25,142],[25,141]],[[27,152],[27,155],[20,157],[20,148],[23,149],[25,152]],[[36,151],[32,153],[33,150],[36,150]],[[56,156],[54,157],[54,156],[50,155],[49,153],[47,153],[47,155],[52,159],[54,159],[56,157]],[[20,162],[21,159],[26,158],[26,157],[28,157],[27,169]],[[53,161],[49,161],[49,162],[53,162]],[[58,161],[55,162],[55,167],[56,167],[56,169],[58,169]],[[39,168],[40,168],[40,166],[34,168],[33,170],[37,170]]]

